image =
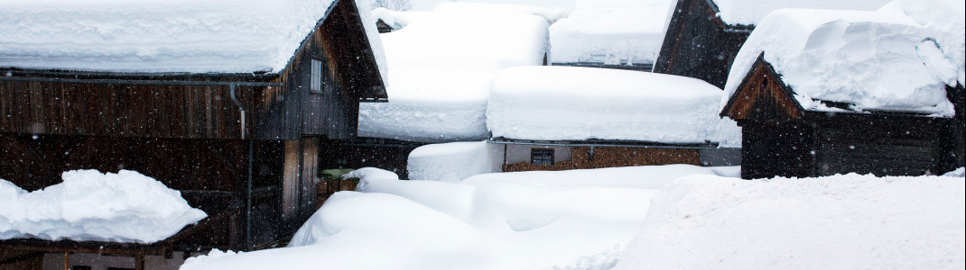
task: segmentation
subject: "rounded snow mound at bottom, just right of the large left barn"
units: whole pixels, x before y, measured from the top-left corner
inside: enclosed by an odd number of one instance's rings
[[[493,248],[466,224],[388,194],[338,192],[289,247],[192,257],[181,269],[487,269]]]

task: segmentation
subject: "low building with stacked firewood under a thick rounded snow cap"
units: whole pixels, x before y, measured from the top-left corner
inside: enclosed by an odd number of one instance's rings
[[[720,98],[688,77],[513,67],[494,79],[487,126],[506,144],[504,171],[707,165],[718,147],[741,145],[735,123],[718,117]]]

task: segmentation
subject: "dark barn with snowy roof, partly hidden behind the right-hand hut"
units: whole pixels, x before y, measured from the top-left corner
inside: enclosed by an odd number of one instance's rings
[[[765,14],[782,8],[871,11],[888,1],[719,2],[677,1],[654,72],[698,78],[724,88],[735,54]],[[719,7],[719,4],[728,6]]]

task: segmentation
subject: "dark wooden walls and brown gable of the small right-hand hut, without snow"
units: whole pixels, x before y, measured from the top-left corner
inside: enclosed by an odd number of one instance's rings
[[[743,178],[938,175],[963,166],[962,86],[947,92],[953,118],[809,111],[759,56],[721,115],[742,127]]]

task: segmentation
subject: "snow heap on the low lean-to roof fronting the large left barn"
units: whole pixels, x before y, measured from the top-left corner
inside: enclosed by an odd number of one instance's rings
[[[71,171],[26,192],[0,179],[0,239],[154,243],[207,217],[181,193],[133,171]]]

